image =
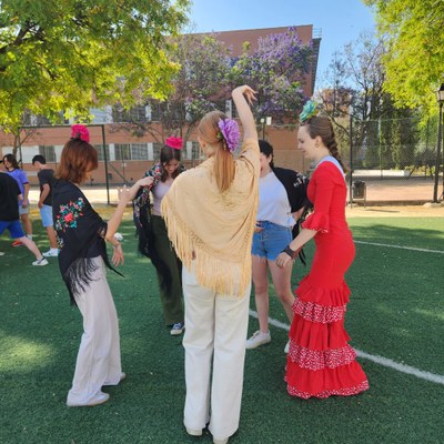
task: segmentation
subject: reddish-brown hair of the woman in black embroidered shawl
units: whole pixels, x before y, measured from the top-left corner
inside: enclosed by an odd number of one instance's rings
[[[87,173],[99,165],[94,147],[81,139],[70,139],[63,147],[54,178],[72,183],[82,182]]]

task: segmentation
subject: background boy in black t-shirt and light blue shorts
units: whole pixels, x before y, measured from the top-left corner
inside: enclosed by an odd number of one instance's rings
[[[47,160],[43,155],[34,155],[32,158],[32,165],[37,169],[37,176],[40,184],[40,199],[38,206],[40,209],[40,216],[42,225],[47,230],[50,249],[43,253],[44,258],[54,258],[59,255],[59,248],[57,246],[56,231],[52,221],[52,180],[54,170],[47,165]]]

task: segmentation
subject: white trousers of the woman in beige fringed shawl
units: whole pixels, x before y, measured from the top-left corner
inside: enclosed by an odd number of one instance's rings
[[[210,421],[212,435],[223,440],[239,427],[250,287],[242,297],[216,294],[200,286],[185,266],[182,284],[186,382],[183,422],[185,427],[199,430]]]

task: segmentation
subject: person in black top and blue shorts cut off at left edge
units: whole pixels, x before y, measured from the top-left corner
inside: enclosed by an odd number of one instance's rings
[[[24,235],[20,225],[18,202],[22,200],[23,195],[17,181],[10,175],[0,172],[0,235],[3,234],[4,230],[8,230],[12,239],[19,240],[34,254],[36,261],[32,262],[32,265],[48,265],[48,261],[43,258],[34,241]]]

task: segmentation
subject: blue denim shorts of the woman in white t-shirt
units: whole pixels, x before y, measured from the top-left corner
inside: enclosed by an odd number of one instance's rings
[[[251,254],[275,261],[282,250],[293,240],[291,226],[278,225],[273,222],[256,223],[262,231],[254,233]]]

